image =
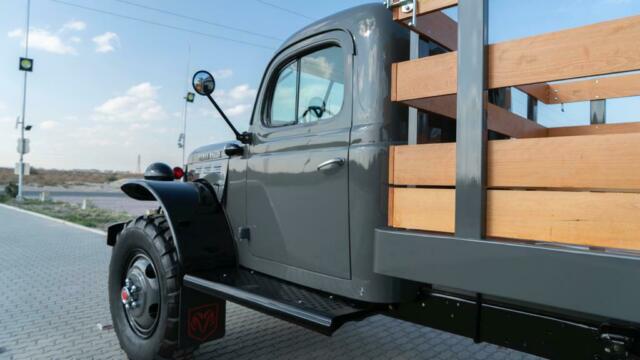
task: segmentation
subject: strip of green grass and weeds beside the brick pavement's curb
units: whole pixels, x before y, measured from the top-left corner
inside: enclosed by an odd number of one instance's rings
[[[80,205],[69,204],[61,201],[41,202],[38,200],[27,199],[23,202],[17,202],[14,199],[11,199],[5,201],[5,203],[24,210],[48,215],[56,219],[102,230],[106,230],[107,226],[111,223],[131,219],[131,215],[126,212],[101,209],[95,206],[87,206],[87,208],[83,210]]]

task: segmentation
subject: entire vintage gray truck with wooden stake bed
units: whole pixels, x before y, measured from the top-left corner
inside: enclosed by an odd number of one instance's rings
[[[640,17],[486,29],[487,0],[319,20],[267,65],[246,132],[197,72],[236,139],[122,186],[158,204],[108,231],[127,355],[189,356],[227,301],[327,335],[382,314],[543,357],[638,354],[640,126],[604,109],[640,95]],[[537,121],[577,101],[591,125]]]

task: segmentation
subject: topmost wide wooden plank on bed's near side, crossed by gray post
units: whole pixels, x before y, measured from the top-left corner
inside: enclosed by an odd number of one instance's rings
[[[488,87],[640,69],[640,16],[488,46]],[[455,94],[457,52],[397,66],[398,100]]]

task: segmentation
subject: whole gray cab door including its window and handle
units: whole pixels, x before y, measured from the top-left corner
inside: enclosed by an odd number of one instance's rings
[[[344,35],[326,33],[285,50],[258,96],[247,159],[249,249],[279,273],[351,275],[353,44],[345,45]]]

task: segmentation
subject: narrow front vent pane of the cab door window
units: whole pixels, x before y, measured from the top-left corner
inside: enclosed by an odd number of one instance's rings
[[[294,61],[278,75],[271,100],[271,126],[289,125],[296,121],[297,68],[297,61]]]

